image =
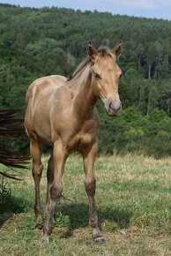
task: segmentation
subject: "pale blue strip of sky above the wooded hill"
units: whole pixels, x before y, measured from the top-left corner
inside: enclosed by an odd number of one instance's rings
[[[56,6],[81,11],[108,11],[113,14],[171,20],[171,0],[7,0],[0,3],[35,8]]]

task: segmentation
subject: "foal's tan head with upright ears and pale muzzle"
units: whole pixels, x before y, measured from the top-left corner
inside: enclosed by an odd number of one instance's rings
[[[122,71],[116,64],[121,55],[122,42],[118,42],[113,50],[95,49],[91,41],[87,45],[87,53],[92,60],[94,93],[104,103],[108,115],[114,117],[122,109],[118,94],[118,82]]]

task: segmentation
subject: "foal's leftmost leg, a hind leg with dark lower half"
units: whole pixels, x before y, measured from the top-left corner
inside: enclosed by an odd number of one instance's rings
[[[41,182],[41,173],[42,173],[42,163],[41,163],[41,149],[42,145],[38,142],[32,141],[30,142],[30,152],[33,158],[33,180],[35,185],[35,204],[34,204],[34,215],[35,222],[41,223],[41,198],[40,198],[40,182]]]

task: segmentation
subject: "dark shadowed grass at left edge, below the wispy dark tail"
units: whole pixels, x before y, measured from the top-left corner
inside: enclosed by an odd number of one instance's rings
[[[23,213],[27,204],[26,199],[13,197],[11,193],[0,192],[0,227],[11,219],[12,215]]]

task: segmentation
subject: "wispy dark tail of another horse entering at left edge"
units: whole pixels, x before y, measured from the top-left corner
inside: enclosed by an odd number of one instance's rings
[[[26,135],[23,126],[23,119],[17,117],[19,109],[8,109],[0,111],[0,139],[14,136]],[[0,147],[0,163],[9,168],[26,169],[26,164],[30,160],[30,155],[20,152],[11,152],[4,147]],[[0,171],[0,175],[13,179],[20,179],[17,174],[9,174]]]

